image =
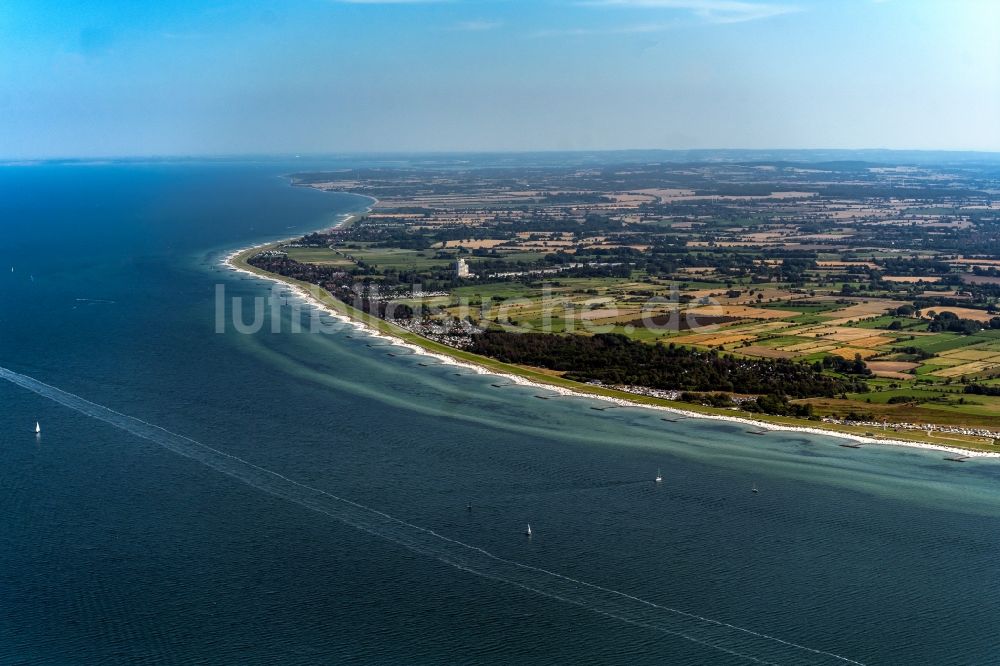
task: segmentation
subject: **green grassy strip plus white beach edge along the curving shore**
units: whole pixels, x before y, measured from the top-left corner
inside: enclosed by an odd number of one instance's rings
[[[347,218],[343,224],[349,224],[350,221],[351,218]],[[547,389],[561,395],[579,395],[597,398],[610,401],[618,406],[649,407],[669,411],[685,417],[726,420],[766,430],[787,430],[830,435],[841,437],[860,445],[882,444],[930,449],[945,452],[957,458],[1000,457],[998,447],[983,437],[923,431],[893,431],[891,436],[887,431],[885,436],[880,436],[873,433],[871,428],[864,427],[765,414],[753,414],[751,416],[741,413],[739,416],[735,416],[732,409],[713,408],[688,403],[684,403],[683,408],[681,408],[675,401],[575,382],[530,367],[503,363],[485,356],[455,349],[416,335],[384,319],[362,312],[334,298],[332,294],[315,284],[267,272],[249,263],[248,260],[250,257],[260,252],[277,249],[280,245],[281,242],[244,248],[229,254],[225,258],[224,263],[233,270],[288,285],[298,295],[311,301],[314,305],[321,307],[330,314],[347,318],[354,324],[366,329],[372,335],[386,338],[395,344],[410,348],[414,352],[435,357],[444,363],[466,367],[476,372],[495,374],[512,382],[535,386],[539,389]]]

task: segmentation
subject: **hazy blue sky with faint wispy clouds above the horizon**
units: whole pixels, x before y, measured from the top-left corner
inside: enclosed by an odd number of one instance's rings
[[[1000,0],[0,2],[0,158],[1000,150]]]

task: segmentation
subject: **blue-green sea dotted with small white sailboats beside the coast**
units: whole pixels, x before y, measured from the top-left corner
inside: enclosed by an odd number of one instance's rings
[[[0,663],[1000,662],[996,462],[217,333],[298,168],[0,168]]]

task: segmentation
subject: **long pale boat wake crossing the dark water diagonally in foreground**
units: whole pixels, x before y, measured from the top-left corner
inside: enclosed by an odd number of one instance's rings
[[[477,546],[300,483],[189,437],[121,414],[6,368],[0,367],[0,379],[196,460],[258,490],[295,502],[372,536],[397,543],[476,576],[513,585],[608,618],[691,641],[707,649],[753,663],[846,663],[863,666],[859,661],[833,652],[800,645],[746,627],[671,608],[625,592],[502,558]]]

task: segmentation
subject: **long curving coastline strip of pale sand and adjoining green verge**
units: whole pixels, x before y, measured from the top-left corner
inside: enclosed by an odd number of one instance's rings
[[[343,220],[332,227],[324,227],[323,230],[335,229],[349,225],[357,218],[367,214],[367,212],[371,211],[372,207],[374,207],[374,205],[378,202],[378,200],[373,197],[367,198],[372,199],[372,206],[363,212],[346,214]],[[965,448],[959,445],[949,446],[944,444],[931,444],[915,440],[893,439],[889,437],[871,437],[835,427],[809,427],[765,420],[763,418],[752,418],[749,416],[733,416],[711,411],[696,411],[694,409],[685,409],[682,407],[674,407],[664,404],[667,401],[663,399],[648,398],[605,387],[589,387],[583,384],[579,385],[579,387],[566,386],[565,384],[569,383],[568,380],[562,380],[563,384],[561,384],[557,382],[557,380],[560,379],[557,377],[550,377],[538,372],[530,372],[527,369],[522,369],[518,366],[511,366],[509,364],[501,363],[500,361],[494,361],[493,359],[479,357],[468,352],[463,352],[459,349],[446,347],[431,340],[426,340],[404,329],[398,329],[398,327],[395,327],[390,322],[381,319],[374,319],[371,315],[365,315],[365,313],[355,310],[350,305],[337,301],[331,294],[320,289],[316,285],[300,282],[276,273],[269,273],[257,269],[247,262],[247,259],[249,259],[249,257],[253,254],[275,247],[283,242],[297,238],[298,236],[299,234],[290,239],[269,241],[233,250],[223,257],[221,263],[228,270],[282,284],[288,287],[296,296],[299,296],[328,316],[354,326],[366,335],[386,340],[394,346],[409,349],[414,354],[433,358],[442,364],[463,368],[477,374],[493,375],[521,386],[530,386],[543,391],[551,391],[560,396],[592,398],[595,400],[609,402],[615,407],[640,407],[654,409],[684,418],[726,421],[729,423],[759,428],[761,430],[798,432],[809,435],[836,437],[852,442],[855,445],[902,446],[924,451],[947,453],[959,459],[1000,458],[1000,451]],[[783,417],[774,418],[781,419]]]

